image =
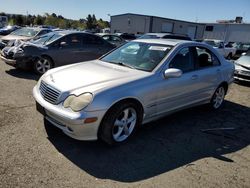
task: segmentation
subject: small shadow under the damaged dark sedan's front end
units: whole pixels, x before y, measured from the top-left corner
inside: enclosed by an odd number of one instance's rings
[[[7,74],[28,80],[36,80],[38,81],[40,76],[32,72],[31,70],[22,70],[22,69],[9,69],[5,71]]]

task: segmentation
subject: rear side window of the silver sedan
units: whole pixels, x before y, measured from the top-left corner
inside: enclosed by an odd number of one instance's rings
[[[196,67],[198,69],[220,65],[219,59],[210,50],[203,47],[196,47],[195,50],[197,54]]]

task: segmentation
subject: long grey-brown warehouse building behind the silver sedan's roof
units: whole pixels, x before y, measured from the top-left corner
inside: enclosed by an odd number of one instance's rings
[[[174,20],[140,14],[120,14],[111,16],[111,32],[122,33],[160,33],[187,34],[192,39],[202,38],[205,24]]]

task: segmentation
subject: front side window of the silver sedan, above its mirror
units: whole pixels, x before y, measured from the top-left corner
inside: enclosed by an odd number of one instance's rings
[[[169,68],[180,69],[183,73],[194,70],[194,61],[190,49],[181,49],[169,63]]]

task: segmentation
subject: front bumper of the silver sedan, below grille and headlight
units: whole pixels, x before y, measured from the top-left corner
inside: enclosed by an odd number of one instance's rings
[[[33,89],[33,96],[40,108],[39,111],[41,112],[41,108],[44,110],[42,114],[45,119],[61,129],[66,135],[77,140],[98,139],[98,129],[106,110],[79,113],[73,112],[68,108],[64,108],[62,104],[53,105],[45,101],[40,95],[37,86]],[[97,121],[87,124],[84,123],[86,118],[92,117],[97,117]]]

